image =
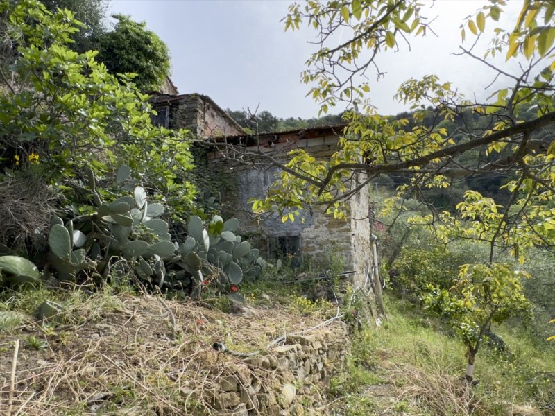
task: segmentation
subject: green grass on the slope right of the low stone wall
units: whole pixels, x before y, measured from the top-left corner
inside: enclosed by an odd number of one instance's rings
[[[495,329],[508,352],[484,345],[469,387],[463,345],[408,302],[387,301],[388,320],[354,338],[348,374],[334,380],[337,414],[555,415],[550,345],[514,327]]]

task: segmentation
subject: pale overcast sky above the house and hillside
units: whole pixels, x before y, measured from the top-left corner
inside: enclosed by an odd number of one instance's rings
[[[146,21],[169,46],[171,78],[182,94],[198,92],[210,96],[223,108],[268,110],[280,117],[316,116],[318,105],[305,97],[308,87],[300,84],[300,72],[314,45],[315,31],[284,32],[280,19],[287,15],[289,0],[111,0],[110,14],[130,15]],[[436,17],[432,28],[438,35],[411,41],[411,50],[401,45],[379,59],[384,79],[371,85],[370,97],[381,114],[405,109],[393,100],[396,89],[407,78],[436,73],[452,81],[469,98],[481,99],[493,89],[484,87],[495,73],[466,57],[457,57],[464,17],[485,0],[424,1]],[[510,1],[502,21],[515,20],[520,1]],[[502,21],[500,23],[502,23]],[[493,22],[488,21],[488,28]],[[468,34],[469,35],[469,34]],[[468,36],[467,35],[467,36]],[[485,43],[486,44],[486,43]],[[504,64],[503,60],[500,61]],[[374,78],[371,78],[372,80]],[[504,83],[504,80],[499,80]],[[339,112],[338,109],[337,112]]]

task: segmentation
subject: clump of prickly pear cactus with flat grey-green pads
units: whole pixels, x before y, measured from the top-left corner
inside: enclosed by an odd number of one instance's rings
[[[148,202],[129,166],[120,166],[109,189],[99,187],[89,173],[86,185],[70,184],[85,202],[78,205],[74,200],[71,209],[85,214],[65,224],[57,217],[52,220],[48,260],[58,281],[76,281],[78,273],[85,272],[81,274],[92,273],[101,284],[115,273],[133,275],[146,287],[178,289],[194,297],[208,285],[235,295],[244,275],[254,278],[266,265],[259,250],[234,234],[237,219],[224,222],[214,216],[205,227],[198,216],[191,216],[189,236],[179,245],[171,242],[169,225],[160,218],[166,208]]]

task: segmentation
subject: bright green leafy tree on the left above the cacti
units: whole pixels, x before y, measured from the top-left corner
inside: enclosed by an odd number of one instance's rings
[[[189,214],[187,132],[155,128],[149,97],[130,77],[108,73],[96,51],[69,49],[80,26],[73,13],[4,0],[0,16],[4,46],[15,50],[15,62],[0,62],[0,182],[37,164],[42,180],[71,193],[67,180],[85,167],[104,178],[128,164],[176,216]]]

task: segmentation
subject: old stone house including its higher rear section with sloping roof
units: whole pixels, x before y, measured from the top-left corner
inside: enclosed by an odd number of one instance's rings
[[[216,137],[221,142],[234,144],[246,153],[263,153],[284,160],[287,152],[304,148],[314,157],[329,157],[337,148],[343,125],[265,133],[254,137],[231,119],[209,97],[200,94],[155,97],[158,112],[156,122],[168,128],[189,128],[197,137]],[[277,166],[261,167],[246,163],[245,159],[230,158],[225,151],[212,149],[202,168],[216,168],[225,177],[225,186],[218,196],[223,214],[239,218],[241,234],[249,237],[268,257],[290,257],[293,264],[299,259],[330,259],[335,251],[345,259],[345,267],[352,270],[352,279],[364,284],[372,267],[370,245],[370,216],[368,187],[350,198],[350,220],[336,219],[323,209],[305,211],[302,220],[282,223],[278,216],[262,218],[250,210],[249,198],[262,198],[280,173]],[[263,160],[264,158],[261,158]],[[257,165],[257,168],[254,166]],[[364,177],[352,180],[356,187]]]

